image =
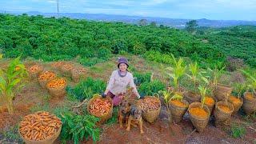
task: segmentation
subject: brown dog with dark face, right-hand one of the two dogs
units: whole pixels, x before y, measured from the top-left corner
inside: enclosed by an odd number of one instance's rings
[[[139,126],[140,133],[143,134],[142,130],[142,110],[138,106],[132,106],[130,109],[130,116],[128,118],[127,131],[130,131],[130,125],[137,127]]]

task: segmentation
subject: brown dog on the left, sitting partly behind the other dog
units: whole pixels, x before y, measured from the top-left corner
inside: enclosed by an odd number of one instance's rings
[[[118,111],[118,122],[120,127],[122,128],[122,122],[125,122],[127,125],[128,118],[130,116],[130,102],[127,100],[123,100],[120,104],[120,108]]]

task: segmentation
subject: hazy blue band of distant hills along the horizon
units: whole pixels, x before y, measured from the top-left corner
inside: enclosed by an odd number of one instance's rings
[[[3,11],[0,10],[3,13]],[[6,12],[9,14],[22,14],[21,12]],[[115,14],[81,14],[81,13],[41,13],[38,11],[27,12],[28,15],[43,15],[45,17],[68,17],[76,19],[88,19],[94,21],[105,22],[127,22],[138,24],[139,20],[146,19],[147,22],[156,22],[158,25],[172,26],[176,28],[184,28],[186,22],[190,19],[179,18],[153,18],[153,17],[140,17],[140,16],[127,16],[127,15],[115,15]],[[256,21],[240,21],[240,20],[210,20],[206,18],[197,19],[199,26],[209,27],[226,27],[226,26],[240,26],[240,25],[254,25]]]

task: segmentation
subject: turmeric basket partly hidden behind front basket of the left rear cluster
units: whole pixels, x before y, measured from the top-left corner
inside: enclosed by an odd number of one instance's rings
[[[42,88],[46,88],[46,84],[53,80],[56,74],[53,71],[44,71],[38,76],[38,82]]]

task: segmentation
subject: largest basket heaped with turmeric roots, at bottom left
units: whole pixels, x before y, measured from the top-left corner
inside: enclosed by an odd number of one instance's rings
[[[27,144],[51,144],[61,130],[62,122],[58,117],[46,111],[38,111],[22,119],[18,133]]]

